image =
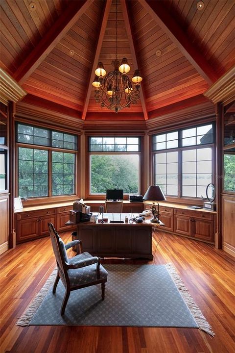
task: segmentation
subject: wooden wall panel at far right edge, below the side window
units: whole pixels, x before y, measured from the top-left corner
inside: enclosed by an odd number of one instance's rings
[[[235,256],[235,196],[221,196],[222,249]]]

